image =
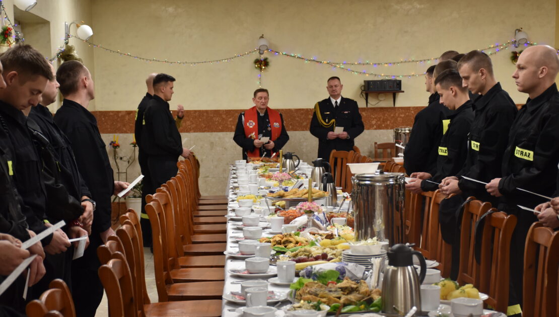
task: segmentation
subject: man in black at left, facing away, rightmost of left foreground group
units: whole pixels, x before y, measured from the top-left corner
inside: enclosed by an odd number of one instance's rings
[[[66,61],[56,71],[56,79],[64,100],[54,122],[69,138],[78,170],[96,203],[89,247],[83,257],[72,263],[72,297],[76,314],[93,317],[103,297],[103,285],[97,274],[101,266],[97,247],[115,234],[111,229],[111,195],[116,195],[129,184],[113,180],[97,119],[87,110],[89,101],[94,98],[89,70],[79,61]]]

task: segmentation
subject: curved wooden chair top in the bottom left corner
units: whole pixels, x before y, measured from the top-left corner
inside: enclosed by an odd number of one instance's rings
[[[72,294],[66,283],[59,278],[50,282],[49,289],[39,299],[29,302],[25,311],[29,317],[75,317]]]

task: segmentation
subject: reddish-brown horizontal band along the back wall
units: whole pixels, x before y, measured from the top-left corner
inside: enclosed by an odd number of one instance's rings
[[[423,107],[359,108],[365,129],[382,130],[411,126]],[[243,110],[184,111],[181,132],[234,132]],[[279,109],[287,131],[308,131],[312,109]],[[136,111],[93,111],[101,133],[134,133]],[[175,112],[173,112],[174,115]]]

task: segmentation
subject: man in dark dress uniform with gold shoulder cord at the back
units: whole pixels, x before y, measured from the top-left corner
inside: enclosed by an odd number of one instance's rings
[[[365,127],[357,102],[342,97],[340,79],[333,76],[326,83],[330,97],[315,104],[310,132],[318,138],[318,157],[328,161],[332,150],[352,151]],[[335,133],[335,127],[343,127],[343,132]]]

